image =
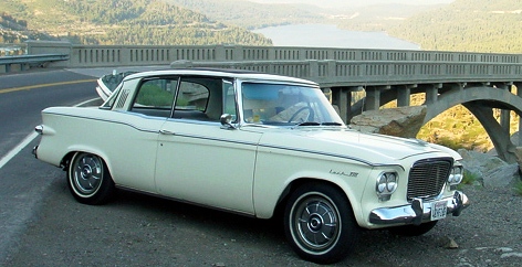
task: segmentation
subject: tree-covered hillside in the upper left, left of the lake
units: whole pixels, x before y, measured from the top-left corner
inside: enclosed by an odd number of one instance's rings
[[[260,34],[156,0],[4,1],[4,12],[28,29],[73,43],[271,45]]]

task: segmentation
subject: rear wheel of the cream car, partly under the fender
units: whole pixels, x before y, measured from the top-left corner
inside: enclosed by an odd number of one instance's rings
[[[67,170],[67,185],[76,201],[90,205],[107,202],[115,188],[103,159],[85,152],[73,156]]]

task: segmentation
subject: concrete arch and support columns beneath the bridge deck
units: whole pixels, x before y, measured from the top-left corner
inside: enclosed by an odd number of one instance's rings
[[[464,106],[480,121],[491,138],[499,157],[510,163],[518,162],[515,146],[510,140],[510,111],[522,116],[522,97],[511,92],[512,83],[477,83],[477,84],[430,84],[430,85],[399,85],[379,86],[366,89],[366,97],[351,107],[351,117],[363,110],[372,110],[392,100],[398,106],[409,106],[411,94],[426,94],[427,114],[424,124],[427,124],[441,113],[457,105]],[[522,88],[522,84],[516,84]],[[361,89],[361,88],[359,88]],[[501,110],[498,121],[493,109]],[[351,118],[349,117],[349,118]]]

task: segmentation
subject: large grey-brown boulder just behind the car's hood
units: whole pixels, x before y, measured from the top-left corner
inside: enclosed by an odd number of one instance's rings
[[[362,132],[415,138],[422,127],[426,106],[410,106],[364,111],[351,121]]]

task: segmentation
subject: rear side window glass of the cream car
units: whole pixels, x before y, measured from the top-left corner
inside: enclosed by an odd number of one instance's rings
[[[143,82],[139,85],[130,111],[148,116],[169,117],[176,85],[176,78],[157,78]]]

